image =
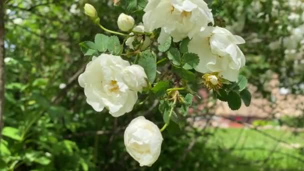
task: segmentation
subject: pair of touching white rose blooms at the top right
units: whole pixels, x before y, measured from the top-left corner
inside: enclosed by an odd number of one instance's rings
[[[174,41],[191,39],[189,52],[198,54],[200,59],[196,71],[219,72],[225,79],[237,80],[239,69],[245,64],[237,44],[245,41],[225,28],[207,26],[213,23],[213,16],[203,0],[149,0],[144,11],[145,28],[161,28],[158,42],[168,36]]]

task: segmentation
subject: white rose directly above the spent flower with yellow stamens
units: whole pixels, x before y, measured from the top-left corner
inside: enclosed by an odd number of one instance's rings
[[[245,65],[245,56],[237,46],[242,43],[242,37],[225,28],[207,27],[189,41],[188,50],[199,56],[196,71],[219,72],[223,78],[236,81],[239,69]]]

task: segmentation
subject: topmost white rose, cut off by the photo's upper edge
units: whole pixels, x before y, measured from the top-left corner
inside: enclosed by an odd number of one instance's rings
[[[158,42],[168,36],[177,42],[204,30],[214,23],[211,9],[203,0],[148,0],[144,8],[143,25],[148,32],[161,28]]]

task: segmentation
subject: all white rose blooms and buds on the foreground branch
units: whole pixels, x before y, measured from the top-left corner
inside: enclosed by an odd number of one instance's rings
[[[91,5],[84,8],[88,16],[98,21],[97,12]],[[148,0],[144,11],[143,25],[135,27],[131,16],[121,13],[118,17],[119,29],[130,32],[125,41],[130,49],[147,48],[151,40],[144,32],[160,28],[157,39],[160,44],[169,36],[175,42],[186,37],[190,39],[188,51],[196,53],[200,59],[195,70],[208,74],[207,79],[214,87],[223,79],[237,80],[239,69],[245,65],[245,57],[237,44],[245,41],[225,28],[208,26],[214,21],[211,9],[203,0]],[[133,43],[135,40],[140,46]],[[93,57],[78,82],[94,110],[106,108],[118,117],[132,110],[137,92],[147,86],[146,78],[141,66],[103,53]],[[126,150],[140,166],[150,166],[157,160],[161,142],[159,128],[143,116],[133,119],[124,132]]]

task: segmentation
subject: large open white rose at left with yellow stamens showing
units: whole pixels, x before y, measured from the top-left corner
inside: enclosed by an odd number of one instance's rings
[[[95,111],[105,107],[118,117],[132,110],[137,91],[146,86],[146,77],[141,66],[130,65],[120,56],[101,54],[86,65],[78,82],[84,88],[86,102]]]

